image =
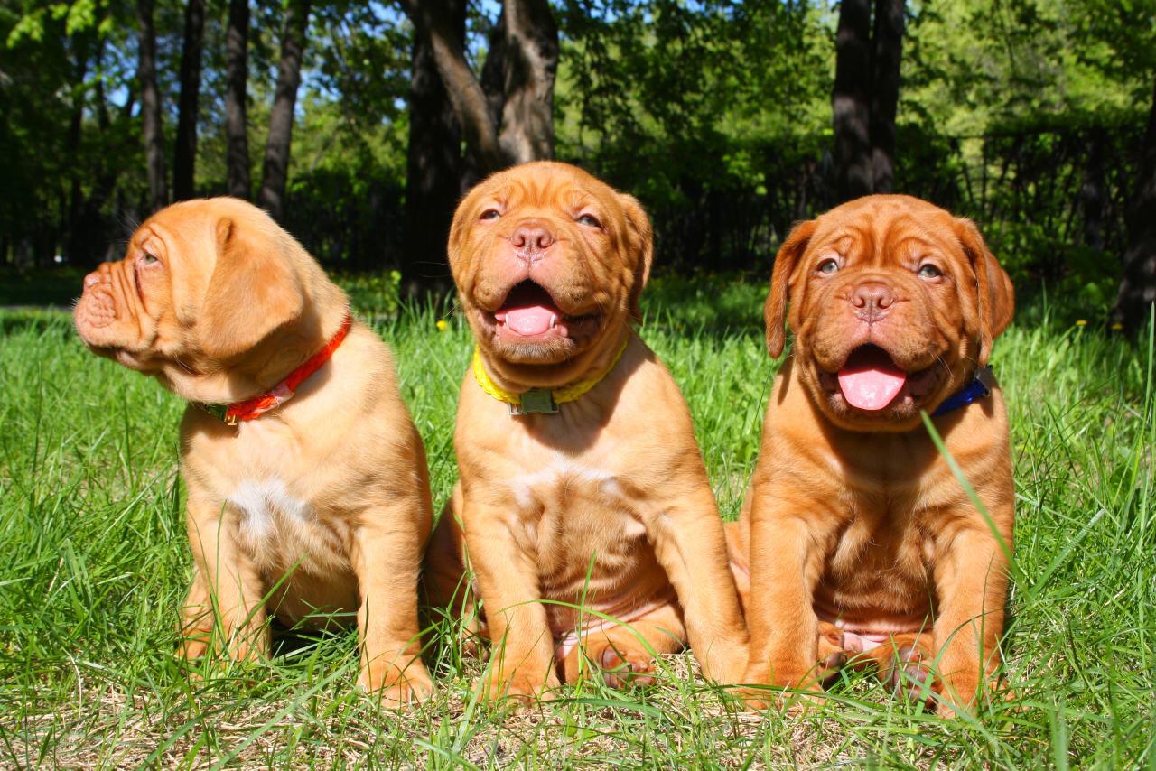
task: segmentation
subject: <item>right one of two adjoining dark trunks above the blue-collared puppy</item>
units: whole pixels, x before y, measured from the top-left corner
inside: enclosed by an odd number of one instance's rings
[[[872,40],[872,191],[895,190],[895,114],[899,106],[899,62],[903,54],[904,0],[875,0]]]

